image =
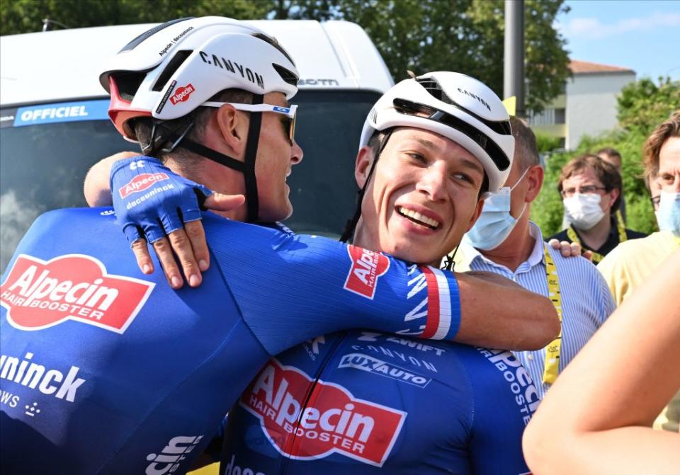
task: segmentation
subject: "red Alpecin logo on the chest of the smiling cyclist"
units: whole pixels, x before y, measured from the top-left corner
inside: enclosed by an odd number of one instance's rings
[[[320,379],[312,384],[305,373],[277,360],[268,362],[239,404],[259,418],[265,437],[287,457],[312,460],[338,453],[376,467],[390,455],[407,416],[356,399],[339,384]]]

